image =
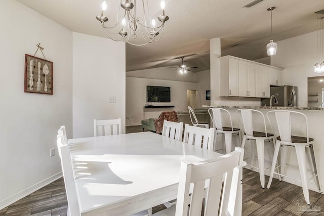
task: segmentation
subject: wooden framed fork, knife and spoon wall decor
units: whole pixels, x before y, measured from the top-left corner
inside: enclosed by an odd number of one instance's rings
[[[53,62],[25,54],[25,92],[53,95]]]

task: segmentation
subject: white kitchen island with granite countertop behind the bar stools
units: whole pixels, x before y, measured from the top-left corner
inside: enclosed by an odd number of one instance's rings
[[[233,122],[233,127],[238,127],[240,128],[240,123],[238,120],[238,117],[236,115],[236,110],[237,109],[256,109],[258,111],[261,111],[266,118],[266,127],[267,127],[267,132],[268,133],[272,133],[271,131],[271,127],[270,124],[267,120],[266,117],[266,113],[270,110],[274,110],[274,109],[279,109],[279,110],[294,110],[294,111],[298,111],[301,112],[303,114],[305,114],[307,116],[308,119],[308,134],[310,138],[314,139],[314,152],[315,152],[315,159],[316,159],[316,165],[317,165],[317,171],[318,171],[318,176],[319,176],[319,182],[320,182],[320,186],[321,186],[321,191],[324,191],[324,112],[322,112],[322,110],[324,110],[324,108],[322,107],[281,107],[281,106],[203,106],[204,108],[211,108],[211,107],[218,107],[218,108],[224,108],[226,110],[228,110],[231,114],[231,118],[232,118],[232,122]],[[229,123],[229,119],[224,119],[224,125],[227,125]],[[299,122],[294,122],[294,124],[296,124],[298,126]],[[261,125],[260,125],[260,128]],[[255,128],[255,130],[257,131],[257,129]],[[305,131],[304,128],[301,128],[300,131]],[[242,132],[241,132],[242,133]],[[294,135],[298,135],[298,131],[297,134]],[[234,138],[234,137],[233,137]],[[223,139],[223,140],[222,140]],[[217,136],[217,148],[222,148],[222,143],[224,141],[224,138],[221,135]],[[238,139],[233,139],[233,148],[235,148],[235,146],[240,146],[240,143],[238,142]],[[255,145],[255,141],[247,141],[246,142],[246,151],[245,151],[245,158],[249,157],[250,155],[250,146],[251,146],[251,142],[254,142],[253,145]],[[272,162],[272,156],[273,156],[273,145],[271,143],[271,145],[266,144],[265,148],[264,148],[264,155],[265,155],[265,167],[269,167],[269,169],[267,169],[265,171],[266,175],[270,174],[270,166],[271,166],[271,162]],[[309,151],[306,149],[306,154],[307,157],[309,157]],[[249,163],[249,161],[247,161]],[[257,165],[257,159],[255,159],[255,165]],[[286,167],[286,175],[292,178],[284,178],[284,181],[301,186],[301,183],[297,180],[300,180],[300,174],[299,174],[299,169],[298,169],[298,165],[297,165],[297,158],[296,158],[296,152],[293,149],[293,147],[289,147],[288,148],[288,154],[287,154],[287,167]],[[307,164],[307,168],[309,170],[311,170],[311,164],[310,161],[308,161]],[[248,167],[249,168],[249,167]],[[310,179],[312,177],[312,174],[309,172],[308,173],[308,179]],[[277,178],[276,175],[274,175],[274,178]],[[296,180],[297,179],[297,180]],[[267,183],[266,183],[267,184]],[[316,187],[315,181],[314,179],[310,180],[308,183],[308,187],[310,190],[316,191],[318,192],[318,189]],[[271,188],[270,188],[271,189]]]

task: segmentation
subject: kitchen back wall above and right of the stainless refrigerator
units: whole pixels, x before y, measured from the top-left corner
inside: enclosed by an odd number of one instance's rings
[[[282,83],[298,87],[298,104],[307,107],[307,77],[314,73],[316,57],[316,31],[277,41],[277,53],[271,56],[271,65],[284,68]]]

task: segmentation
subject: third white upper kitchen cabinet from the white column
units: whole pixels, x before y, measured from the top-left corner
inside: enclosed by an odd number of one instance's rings
[[[257,98],[270,97],[270,68],[256,65],[256,93]]]

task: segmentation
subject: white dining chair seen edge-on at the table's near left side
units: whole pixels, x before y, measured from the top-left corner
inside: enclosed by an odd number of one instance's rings
[[[75,189],[74,175],[72,169],[72,161],[69,153],[69,146],[64,138],[65,127],[61,126],[57,131],[57,149],[61,159],[65,192],[67,198],[67,215],[80,215],[79,206],[77,203],[77,195]],[[151,215],[152,209],[143,210],[132,214],[131,216],[148,216]]]

